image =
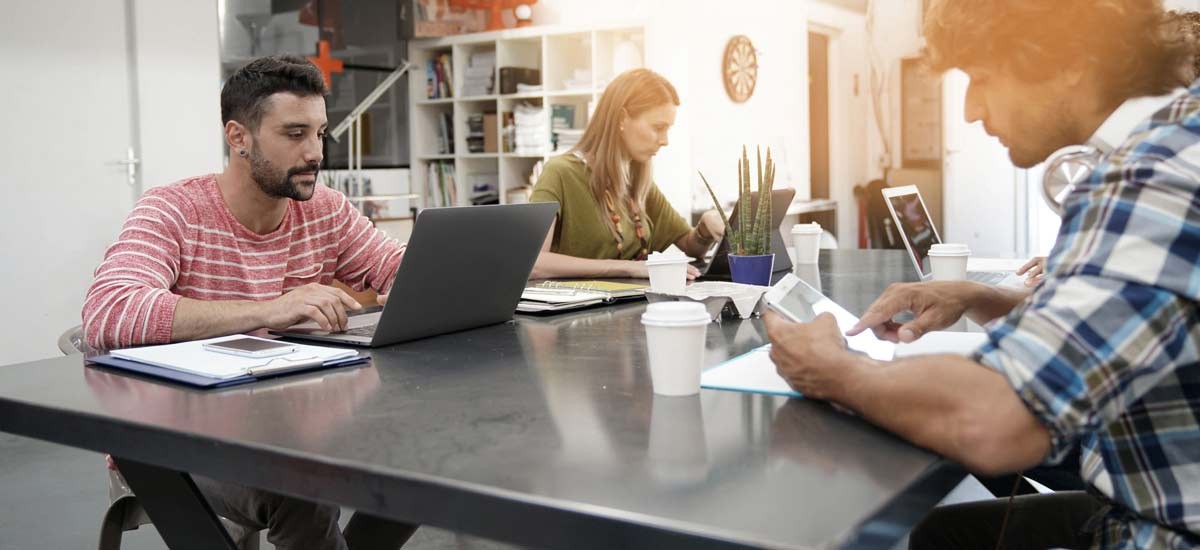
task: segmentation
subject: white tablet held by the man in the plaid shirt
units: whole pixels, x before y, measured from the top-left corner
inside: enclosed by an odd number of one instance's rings
[[[844,335],[858,323],[858,317],[793,274],[784,275],[762,299],[767,307],[797,323],[808,323],[821,313],[830,313],[838,319],[838,328]],[[895,357],[895,345],[875,337],[870,330],[846,337],[846,346],[872,359],[892,360]]]

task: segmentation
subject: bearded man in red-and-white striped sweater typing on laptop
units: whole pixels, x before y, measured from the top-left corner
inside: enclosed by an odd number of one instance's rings
[[[404,245],[317,184],[326,92],[317,67],[296,56],[258,59],[226,82],[229,166],[138,201],[88,291],[89,345],[113,349],[304,321],[342,330],[346,311],[361,305],[334,280],[386,299]],[[398,548],[415,530],[356,515],[343,536],[335,506],[196,482],[217,513],[266,528],[278,549],[341,550],[348,540],[366,548],[378,539]]]

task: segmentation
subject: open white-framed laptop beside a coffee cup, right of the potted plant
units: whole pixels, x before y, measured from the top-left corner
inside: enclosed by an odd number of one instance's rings
[[[925,201],[920,198],[920,191],[916,185],[883,189],[883,202],[892,213],[892,221],[895,222],[900,232],[900,240],[904,241],[905,250],[912,259],[913,268],[923,281],[932,279],[932,268],[929,263],[929,249],[942,243],[942,238],[934,227],[934,220],[929,216]],[[967,259],[967,280],[983,282],[986,285],[1022,286],[1022,279],[1016,275],[1016,268],[1024,262],[1019,259],[1001,261],[995,258],[970,258]],[[1003,269],[979,269],[980,264],[997,265]]]

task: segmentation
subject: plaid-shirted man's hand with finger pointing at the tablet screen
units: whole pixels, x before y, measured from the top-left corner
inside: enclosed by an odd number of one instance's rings
[[[912,342],[930,330],[941,330],[956,323],[970,306],[971,286],[966,281],[932,281],[896,283],[877,298],[847,336],[871,329],[890,342]],[[911,311],[916,317],[904,324],[892,321]]]

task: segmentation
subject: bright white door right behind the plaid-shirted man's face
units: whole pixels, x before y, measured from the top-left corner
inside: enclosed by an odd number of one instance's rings
[[[1025,195],[1024,178],[983,124],[966,122],[968,82],[966,73],[949,71],[942,85],[942,240],[966,244],[974,256],[1014,258],[1019,252],[1018,204]]]

